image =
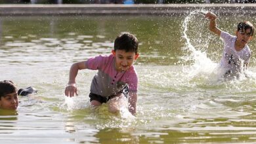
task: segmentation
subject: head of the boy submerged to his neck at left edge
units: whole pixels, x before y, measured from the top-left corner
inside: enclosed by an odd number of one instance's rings
[[[15,110],[18,107],[17,88],[12,81],[0,81],[0,109]]]

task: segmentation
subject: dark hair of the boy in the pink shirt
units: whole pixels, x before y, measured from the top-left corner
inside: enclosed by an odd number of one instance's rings
[[[138,52],[139,41],[131,33],[123,33],[116,37],[114,50],[125,50],[125,52]]]

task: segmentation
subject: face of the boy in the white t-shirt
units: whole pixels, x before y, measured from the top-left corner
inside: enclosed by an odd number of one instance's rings
[[[241,29],[240,31],[236,31],[236,41],[241,43],[242,45],[245,45],[251,41],[253,38],[251,36],[251,29]]]

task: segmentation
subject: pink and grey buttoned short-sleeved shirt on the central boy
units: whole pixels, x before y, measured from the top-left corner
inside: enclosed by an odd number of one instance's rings
[[[91,83],[91,92],[103,97],[119,93],[125,86],[129,92],[137,92],[138,77],[133,65],[123,72],[116,71],[114,55],[96,56],[85,62],[87,69],[98,70]]]

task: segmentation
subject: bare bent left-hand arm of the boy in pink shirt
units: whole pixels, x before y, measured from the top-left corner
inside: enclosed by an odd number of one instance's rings
[[[66,86],[66,88],[65,88],[66,96],[73,97],[73,96],[75,96],[75,94],[78,95],[77,88],[75,86],[75,77],[77,76],[78,70],[81,70],[81,69],[87,69],[87,67],[85,65],[85,61],[74,63],[70,67],[70,78],[68,81],[68,86]]]

